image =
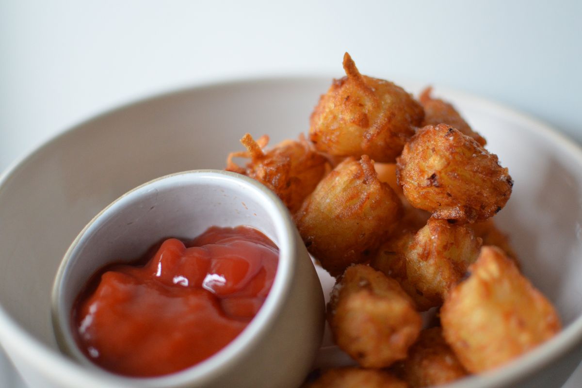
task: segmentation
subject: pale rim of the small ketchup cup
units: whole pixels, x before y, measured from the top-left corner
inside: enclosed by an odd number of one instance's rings
[[[69,354],[77,361],[80,361],[81,365],[88,366],[88,369],[94,369],[100,372],[104,371],[104,369],[89,361],[79,350],[79,347],[72,336],[70,311],[62,304],[62,296],[66,292],[63,290],[63,287],[66,284],[66,277],[69,274],[69,268],[80,259],[77,255],[77,247],[79,247],[79,244],[82,243],[84,239],[88,239],[92,233],[97,232],[100,229],[100,222],[106,220],[109,216],[114,215],[121,209],[133,206],[136,198],[140,198],[141,195],[154,188],[161,186],[164,188],[171,186],[180,188],[187,186],[187,188],[190,188],[194,185],[211,186],[218,183],[218,181],[237,187],[235,193],[249,190],[246,191],[246,197],[258,198],[261,207],[263,207],[265,212],[269,215],[269,221],[275,229],[275,236],[278,237],[279,241],[277,245],[279,247],[279,262],[274,282],[263,306],[258,311],[257,315],[255,315],[251,320],[249,325],[246,326],[243,332],[241,332],[228,345],[204,361],[183,369],[182,371],[148,378],[135,378],[116,375],[115,373],[107,371],[105,372],[111,373],[116,379],[122,379],[123,382],[128,382],[127,380],[129,380],[129,382],[134,386],[152,384],[158,387],[176,387],[189,382],[201,384],[216,378],[223,372],[223,369],[226,368],[226,370],[228,370],[230,366],[236,365],[237,362],[240,362],[244,357],[246,357],[246,352],[249,350],[249,347],[253,348],[257,346],[257,344],[264,339],[265,334],[273,328],[278,315],[285,306],[285,303],[289,298],[294,277],[297,273],[296,261],[298,257],[294,254],[297,239],[294,233],[294,224],[291,216],[283,202],[271,190],[258,181],[234,172],[200,169],[172,173],[158,177],[127,191],[127,193],[121,195],[95,215],[94,218],[83,227],[83,230],[81,230],[77,235],[73,243],[69,245],[55,276],[51,298],[53,328],[55,330],[57,344],[62,351]]]

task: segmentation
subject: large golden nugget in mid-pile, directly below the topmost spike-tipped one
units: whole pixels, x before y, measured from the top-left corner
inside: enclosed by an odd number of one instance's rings
[[[368,260],[402,216],[398,196],[363,155],[347,158],[317,185],[295,215],[308,251],[332,276]]]

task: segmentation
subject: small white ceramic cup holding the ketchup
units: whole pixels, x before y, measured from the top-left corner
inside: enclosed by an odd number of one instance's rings
[[[87,379],[97,385],[105,373],[81,353],[70,324],[74,301],[88,279],[105,265],[132,262],[162,239],[191,240],[210,226],[239,225],[260,230],[279,247],[273,286],[249,326],[217,354],[184,371],[148,379],[112,375],[103,386],[112,379],[118,380],[115,386],[157,388],[300,385],[323,333],[321,283],[281,200],[257,181],[221,170],[150,181],[124,194],[84,227],[63,258],[52,293],[59,346],[93,369]],[[77,381],[74,386],[86,383]]]

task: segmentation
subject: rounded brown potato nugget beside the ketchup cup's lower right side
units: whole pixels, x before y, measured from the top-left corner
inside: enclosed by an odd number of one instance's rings
[[[364,368],[406,358],[422,326],[398,282],[363,264],[350,266],[338,280],[327,315],[336,344]]]

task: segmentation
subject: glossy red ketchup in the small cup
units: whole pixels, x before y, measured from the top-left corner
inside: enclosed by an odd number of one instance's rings
[[[261,308],[279,251],[251,227],[211,227],[191,244],[162,243],[147,264],[112,265],[73,308],[91,361],[127,376],[177,372],[236,338]]]

